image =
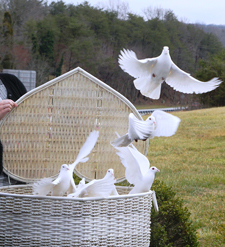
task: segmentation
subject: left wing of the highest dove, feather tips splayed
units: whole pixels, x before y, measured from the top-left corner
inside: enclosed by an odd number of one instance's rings
[[[135,78],[149,76],[152,67],[157,62],[157,58],[138,60],[136,54],[131,50],[124,49],[120,53],[118,62],[121,69]]]

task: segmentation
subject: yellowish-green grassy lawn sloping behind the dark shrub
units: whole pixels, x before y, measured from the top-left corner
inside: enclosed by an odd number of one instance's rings
[[[184,200],[200,246],[225,246],[225,107],[172,114],[177,133],[150,140],[148,158]]]

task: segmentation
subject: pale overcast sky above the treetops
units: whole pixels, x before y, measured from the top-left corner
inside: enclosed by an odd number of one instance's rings
[[[84,2],[84,0],[62,1],[74,5]],[[225,0],[89,0],[87,2],[95,7],[102,6],[102,3],[108,5],[109,2],[128,3],[130,12],[138,15],[143,15],[143,10],[148,7],[159,7],[172,10],[179,21],[186,23],[225,25]]]

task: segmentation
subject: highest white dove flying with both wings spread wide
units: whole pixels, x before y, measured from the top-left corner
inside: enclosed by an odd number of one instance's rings
[[[174,90],[188,94],[212,91],[222,82],[218,78],[202,82],[181,70],[171,60],[167,46],[163,47],[160,56],[141,60],[133,51],[124,49],[118,62],[125,72],[136,78],[134,85],[141,94],[152,99],[159,99],[164,81]]]

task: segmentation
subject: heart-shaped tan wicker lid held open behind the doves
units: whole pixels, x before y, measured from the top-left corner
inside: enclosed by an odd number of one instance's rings
[[[89,161],[78,164],[75,172],[91,180],[113,168],[118,181],[124,178],[124,167],[110,142],[115,131],[127,132],[130,112],[141,116],[121,94],[77,68],[17,103],[0,126],[4,171],[9,176],[25,182],[57,176],[61,165],[73,163],[90,132],[97,129],[100,136]],[[146,154],[147,142],[135,145]]]

